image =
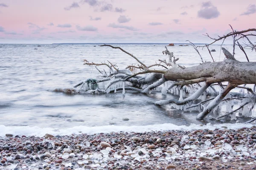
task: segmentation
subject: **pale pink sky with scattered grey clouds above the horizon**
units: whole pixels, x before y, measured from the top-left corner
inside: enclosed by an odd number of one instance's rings
[[[0,43],[209,43],[255,18],[255,0],[0,0]]]

